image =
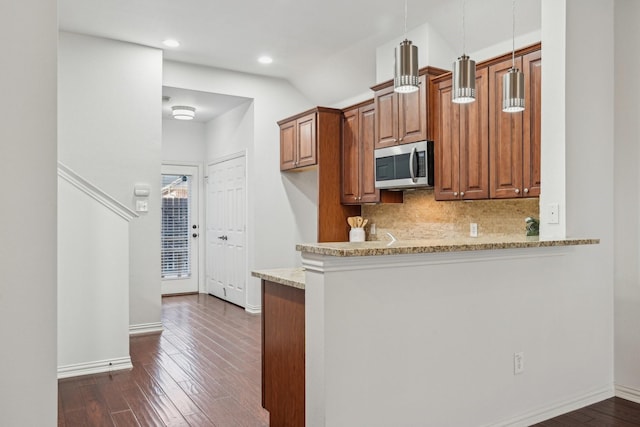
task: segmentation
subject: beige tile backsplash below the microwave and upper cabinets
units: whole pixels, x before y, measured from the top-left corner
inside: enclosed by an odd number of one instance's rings
[[[405,191],[404,203],[365,205],[362,216],[376,225],[367,240],[443,239],[469,236],[469,224],[478,235],[525,234],[524,219],[539,218],[538,198],[437,202],[433,190]]]

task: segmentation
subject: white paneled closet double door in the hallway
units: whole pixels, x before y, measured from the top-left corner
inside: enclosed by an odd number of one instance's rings
[[[245,157],[210,164],[207,172],[207,292],[245,307]]]

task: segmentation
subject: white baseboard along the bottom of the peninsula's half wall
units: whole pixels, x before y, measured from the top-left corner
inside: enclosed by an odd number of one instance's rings
[[[487,427],[526,427],[532,424],[554,418],[567,412],[575,411],[576,409],[584,408],[588,405],[601,402],[605,399],[609,399],[614,396],[614,390],[612,386],[602,387],[601,389],[594,390],[590,393],[576,396],[572,399],[568,399],[562,402],[549,405],[546,408],[540,408],[522,415],[515,416],[511,419],[501,421],[495,424],[488,424]]]

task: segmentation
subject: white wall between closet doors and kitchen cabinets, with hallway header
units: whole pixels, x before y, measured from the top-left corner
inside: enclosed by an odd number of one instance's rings
[[[276,122],[311,108],[310,101],[281,79],[171,61],[164,62],[163,84],[253,99],[252,104],[243,104],[210,125],[207,157],[247,149],[247,233],[248,250],[252,251],[249,270],[299,265],[295,245],[309,241],[309,236],[314,236],[315,241],[317,224],[305,223],[302,230],[293,224],[296,218],[317,215],[317,202],[309,202],[317,196],[308,194],[306,185],[298,185],[299,181],[305,181],[305,175],[280,173],[280,132]],[[218,141],[218,135],[232,135],[237,145],[226,138]],[[220,148],[216,148],[216,142],[221,144]],[[291,187],[285,182],[290,182]],[[256,300],[259,290],[260,280],[251,278],[247,285],[249,304],[259,305]]]

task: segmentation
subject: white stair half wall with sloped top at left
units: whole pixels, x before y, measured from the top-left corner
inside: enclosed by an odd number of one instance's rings
[[[131,368],[129,221],[76,177],[58,179],[58,377]]]

